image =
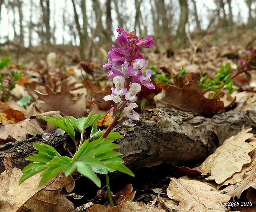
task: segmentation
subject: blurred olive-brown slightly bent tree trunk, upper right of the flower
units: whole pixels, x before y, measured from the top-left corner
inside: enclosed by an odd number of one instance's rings
[[[178,30],[176,33],[176,38],[180,44],[185,44],[186,42],[186,23],[188,21],[188,5],[187,0],[179,0],[180,3],[180,21],[178,25]]]

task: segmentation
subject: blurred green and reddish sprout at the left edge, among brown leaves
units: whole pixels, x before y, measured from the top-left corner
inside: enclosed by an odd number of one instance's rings
[[[8,75],[3,76],[0,73],[0,93],[2,94],[1,101],[7,102],[11,96],[12,89],[15,88],[15,85],[18,79],[21,77],[24,71],[16,71],[14,74],[8,72]]]

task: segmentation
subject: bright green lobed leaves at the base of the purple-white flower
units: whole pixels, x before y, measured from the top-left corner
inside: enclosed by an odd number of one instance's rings
[[[99,187],[101,182],[95,172],[107,174],[109,171],[118,170],[134,176],[133,172],[123,165],[124,161],[118,157],[121,153],[113,151],[120,147],[118,144],[113,143],[114,140],[122,136],[119,133],[110,132],[106,138],[101,137],[104,130],[98,130],[96,122],[104,117],[102,114],[92,115],[92,112],[90,112],[88,117],[78,119],[73,116],[62,117],[61,115],[52,117],[38,115],[38,117],[68,133],[75,143],[76,152],[71,157],[61,156],[55,148],[47,144],[34,143],[33,145],[38,150],[38,154],[33,154],[27,157],[26,160],[35,163],[30,163],[23,169],[24,174],[19,181],[20,184],[42,171],[43,178],[39,183],[39,187],[62,171],[68,176],[77,170]],[[90,138],[83,141],[83,134],[90,126],[92,126]],[[75,130],[81,133],[79,144],[76,142]]]

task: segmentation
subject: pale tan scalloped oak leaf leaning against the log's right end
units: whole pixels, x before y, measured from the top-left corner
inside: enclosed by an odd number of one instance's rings
[[[202,175],[208,175],[206,179],[214,179],[221,184],[235,172],[240,172],[244,164],[251,162],[251,153],[255,146],[246,142],[254,134],[248,133],[251,128],[242,129],[223,142],[206,160],[200,165]]]

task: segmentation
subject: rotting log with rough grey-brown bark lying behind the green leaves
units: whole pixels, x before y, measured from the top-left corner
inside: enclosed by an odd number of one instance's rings
[[[250,114],[251,117],[256,116],[256,112]],[[212,154],[225,139],[241,131],[243,126],[251,127],[245,112],[229,111],[205,118],[163,108],[145,109],[140,120],[134,123],[136,125],[132,128],[114,128],[123,135],[117,141],[121,146],[117,151],[123,154],[121,157],[131,169],[161,163],[186,165],[200,162]],[[62,155],[68,154],[67,148],[71,152],[73,150],[69,135],[57,128],[45,135],[0,146],[0,161],[12,155],[13,166],[24,168],[29,163],[25,158],[36,153],[34,142],[52,145]],[[3,170],[1,162],[0,172]]]

